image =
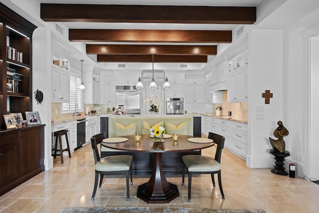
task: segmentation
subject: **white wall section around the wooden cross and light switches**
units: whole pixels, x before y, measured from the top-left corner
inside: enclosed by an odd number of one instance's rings
[[[250,168],[274,166],[268,137],[283,121],[283,32],[252,29],[248,39],[248,155]],[[270,90],[273,98],[265,104],[262,93]],[[256,120],[256,107],[264,107],[264,120]],[[285,120],[283,121],[285,125]]]

